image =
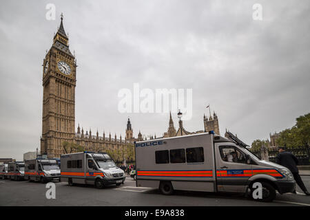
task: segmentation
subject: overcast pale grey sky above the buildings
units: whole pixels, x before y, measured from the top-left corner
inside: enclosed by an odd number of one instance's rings
[[[310,109],[310,10],[305,1],[1,1],[0,157],[39,147],[42,63],[60,23],[77,63],[76,127],[125,137],[167,131],[168,113],[119,113],[119,89],[193,89],[187,131],[211,105],[247,144]],[[45,19],[47,3],[56,20]],[[262,21],[254,21],[254,3]],[[174,125],[178,126],[176,114]]]

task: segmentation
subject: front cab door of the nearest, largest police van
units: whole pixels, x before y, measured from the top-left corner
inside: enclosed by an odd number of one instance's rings
[[[252,166],[246,155],[233,144],[214,144],[216,152],[216,177],[218,191],[245,192]]]

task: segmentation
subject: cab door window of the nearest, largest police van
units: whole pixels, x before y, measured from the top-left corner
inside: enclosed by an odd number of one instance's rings
[[[245,153],[234,146],[220,146],[220,157],[225,162],[246,164]]]

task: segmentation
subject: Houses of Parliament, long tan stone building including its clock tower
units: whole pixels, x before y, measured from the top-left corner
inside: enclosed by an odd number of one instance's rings
[[[69,49],[68,35],[63,28],[63,16],[60,26],[54,34],[52,47],[43,59],[43,111],[42,111],[42,135],[41,153],[49,158],[60,157],[64,152],[64,142],[81,146],[85,151],[104,151],[111,153],[118,161],[134,161],[134,141],[143,140],[139,131],[138,137],[134,137],[130,119],[127,120],[125,138],[119,138],[111,133],[92,135],[92,131],[84,131],[78,126],[75,131],[75,89],[76,89],[76,58]],[[204,116],[205,131],[214,130],[219,134],[218,118]],[[196,131],[200,133],[204,131]],[[163,137],[188,135],[191,132],[183,128],[183,121],[179,121],[179,129],[174,129],[172,115],[170,113],[168,131]],[[150,137],[151,139],[156,138]],[[74,151],[72,151],[73,153]],[[113,155],[114,154],[114,155]]]

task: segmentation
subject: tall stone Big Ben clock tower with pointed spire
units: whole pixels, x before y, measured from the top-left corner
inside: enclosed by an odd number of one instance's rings
[[[43,113],[41,153],[60,157],[63,142],[75,135],[76,61],[69,50],[69,39],[61,24],[43,60]]]

